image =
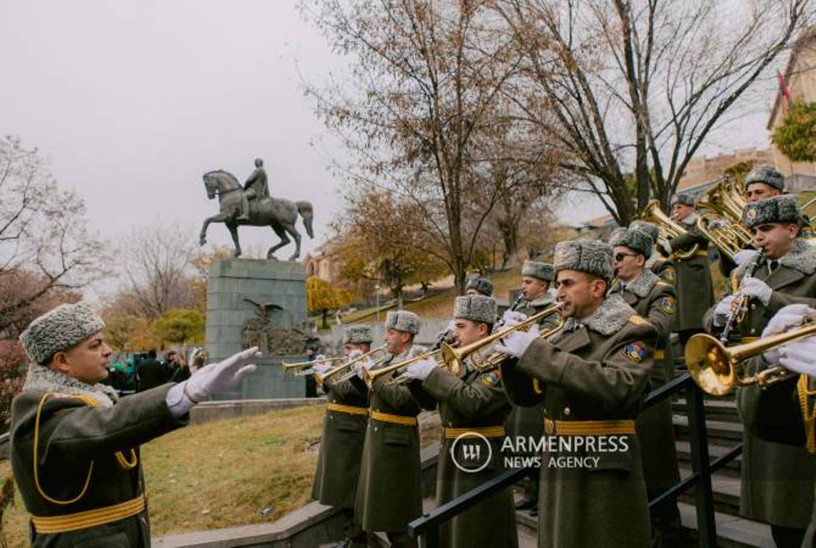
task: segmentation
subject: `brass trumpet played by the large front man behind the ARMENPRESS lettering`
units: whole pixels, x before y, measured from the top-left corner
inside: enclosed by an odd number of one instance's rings
[[[500,329],[493,334],[488,335],[481,340],[478,340],[476,343],[468,344],[467,346],[461,348],[451,347],[450,345],[443,344],[441,347],[442,352],[442,360],[444,361],[446,368],[450,371],[450,373],[454,373],[458,375],[459,372],[462,370],[463,367],[463,360],[465,358],[470,358],[470,364],[473,369],[477,371],[489,371],[490,369],[494,369],[502,364],[504,360],[508,359],[507,354],[503,354],[499,351],[491,351],[490,354],[487,356],[481,355],[481,350],[486,347],[490,347],[492,343],[498,341],[506,337],[508,334],[511,334],[513,331],[519,330],[529,330],[533,325],[538,324],[539,320],[543,320],[548,316],[552,316],[553,314],[558,315],[558,321],[555,326],[552,328],[544,329],[540,332],[539,337],[547,338],[551,334],[555,333],[558,329],[561,329],[561,325],[564,323],[564,318],[561,316],[561,308],[563,308],[563,303],[556,303],[549,307],[546,307],[541,312],[537,312],[534,315],[530,316],[526,320],[522,321],[517,325],[512,325],[506,329]]]

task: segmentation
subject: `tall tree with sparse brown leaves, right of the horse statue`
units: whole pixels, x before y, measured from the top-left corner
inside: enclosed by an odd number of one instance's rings
[[[501,122],[500,91],[521,61],[486,3],[303,3],[335,52],[353,60],[353,84],[307,89],[352,152],[340,169],[353,183],[415,203],[423,249],[448,264],[459,292],[499,200],[499,188],[485,186],[489,165],[480,144]]]

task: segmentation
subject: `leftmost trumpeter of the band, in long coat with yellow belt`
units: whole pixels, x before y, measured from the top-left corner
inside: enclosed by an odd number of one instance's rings
[[[343,332],[344,354],[348,360],[366,353],[371,347],[368,325],[349,325]],[[332,365],[317,364],[317,373],[326,373]],[[368,391],[353,382],[326,378],[326,418],[317,457],[312,497],[321,504],[339,506],[345,523],[345,540],[340,546],[366,546],[366,533],[354,521],[354,502],[360,459],[368,424]]]

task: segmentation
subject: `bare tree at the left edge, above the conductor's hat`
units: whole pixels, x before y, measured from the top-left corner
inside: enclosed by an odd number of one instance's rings
[[[106,274],[85,215],[82,198],[58,187],[36,148],[0,139],[0,333],[75,300],[74,290]]]

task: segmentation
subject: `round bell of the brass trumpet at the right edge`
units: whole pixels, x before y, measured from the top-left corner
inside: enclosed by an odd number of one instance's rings
[[[685,345],[685,364],[697,386],[712,396],[725,396],[737,386],[737,369],[725,345],[714,337],[696,334]]]

